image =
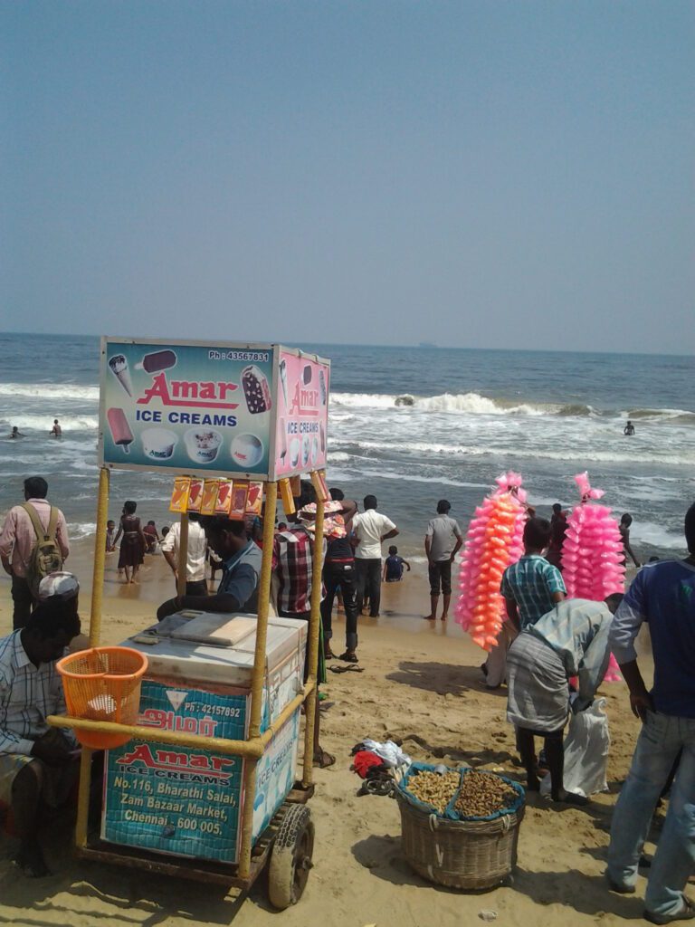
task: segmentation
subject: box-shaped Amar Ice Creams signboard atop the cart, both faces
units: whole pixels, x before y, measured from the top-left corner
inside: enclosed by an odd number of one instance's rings
[[[330,369],[278,345],[102,338],[100,463],[268,479],[321,469]]]

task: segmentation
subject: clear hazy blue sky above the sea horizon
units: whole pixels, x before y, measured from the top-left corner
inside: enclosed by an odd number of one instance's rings
[[[695,351],[695,5],[0,5],[0,329]]]

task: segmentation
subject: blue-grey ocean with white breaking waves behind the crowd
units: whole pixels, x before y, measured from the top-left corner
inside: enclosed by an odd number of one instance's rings
[[[307,345],[332,361],[329,485],[373,493],[398,524],[398,551],[423,562],[436,502],[467,527],[504,470],[524,476],[537,514],[577,502],[588,470],[616,514],[634,517],[641,559],[683,551],[695,500],[695,359],[659,355]],[[0,516],[40,474],[75,540],[95,532],[96,337],[0,335]],[[409,396],[412,405],[396,405]],[[62,440],[48,437],[54,418]],[[623,435],[627,418],[636,434]],[[6,439],[12,425],[24,435]],[[110,517],[126,499],[171,522],[171,477],[114,472]]]

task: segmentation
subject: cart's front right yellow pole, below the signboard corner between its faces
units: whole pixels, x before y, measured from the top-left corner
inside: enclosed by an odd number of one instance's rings
[[[268,640],[268,610],[271,603],[272,542],[275,535],[276,507],[277,483],[266,483],[265,512],[263,514],[263,559],[260,565],[259,577],[259,620],[256,627],[256,652],[253,659],[253,677],[251,679],[249,740],[258,737],[260,733],[265,651]],[[244,766],[244,815],[241,825],[241,849],[239,851],[239,877],[241,879],[247,879],[251,872],[251,839],[253,835],[253,806],[255,799],[256,759],[246,757]]]

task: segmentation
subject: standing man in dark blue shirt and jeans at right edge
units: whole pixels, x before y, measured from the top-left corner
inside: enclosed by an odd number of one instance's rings
[[[635,891],[654,808],[682,751],[644,897],[644,916],[657,924],[695,918],[695,905],[683,894],[695,869],[695,504],[685,534],[689,556],[642,567],[610,632],[633,714],[643,724],[613,812],[607,875],[615,892]],[[654,658],[651,692],[635,650],[643,621],[649,622]]]

